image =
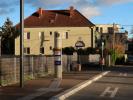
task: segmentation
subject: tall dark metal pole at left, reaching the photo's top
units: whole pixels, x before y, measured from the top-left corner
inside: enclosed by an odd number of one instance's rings
[[[20,0],[20,87],[23,88],[24,86],[24,0]]]

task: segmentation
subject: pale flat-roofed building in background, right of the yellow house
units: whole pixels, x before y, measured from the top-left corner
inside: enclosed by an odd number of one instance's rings
[[[96,47],[101,47],[101,42],[104,42],[104,47],[107,49],[121,45],[126,50],[128,32],[122,29],[119,24],[97,24]]]

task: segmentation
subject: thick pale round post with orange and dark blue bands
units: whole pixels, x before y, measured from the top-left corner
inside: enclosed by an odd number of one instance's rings
[[[55,77],[62,79],[62,37],[59,32],[54,34],[54,46]]]

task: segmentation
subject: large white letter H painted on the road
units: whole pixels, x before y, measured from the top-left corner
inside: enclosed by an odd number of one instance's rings
[[[105,91],[100,95],[101,97],[104,97],[105,95],[107,95],[107,94],[110,94],[110,98],[114,98],[115,97],[115,95],[116,95],[116,93],[117,93],[117,91],[118,91],[118,87],[116,87],[116,88],[114,88],[114,89],[112,89],[111,90],[111,87],[107,87],[106,89],[105,89]]]

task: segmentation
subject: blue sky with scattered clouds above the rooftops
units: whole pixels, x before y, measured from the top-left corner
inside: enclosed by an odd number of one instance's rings
[[[0,26],[6,18],[13,24],[19,23],[19,1],[1,0]],[[133,0],[24,0],[25,18],[30,16],[39,7],[43,9],[69,9],[74,6],[94,24],[120,24],[129,31],[133,27]]]

